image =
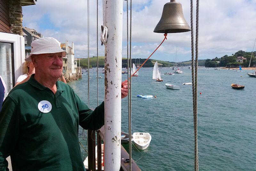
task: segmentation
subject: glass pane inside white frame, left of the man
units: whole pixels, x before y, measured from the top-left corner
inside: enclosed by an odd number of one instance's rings
[[[7,96],[14,85],[13,43],[0,42],[0,75],[6,84]]]

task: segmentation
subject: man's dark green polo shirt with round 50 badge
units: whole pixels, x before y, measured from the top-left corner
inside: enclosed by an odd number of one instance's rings
[[[78,125],[102,127],[104,102],[92,111],[69,85],[56,86],[54,95],[32,75],[5,99],[0,112],[0,171],[6,170],[9,155],[14,171],[85,170]]]

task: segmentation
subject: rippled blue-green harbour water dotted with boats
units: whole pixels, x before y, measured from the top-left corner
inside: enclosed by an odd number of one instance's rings
[[[99,103],[104,100],[104,74],[99,71]],[[184,74],[163,75],[171,68],[159,69],[164,82],[152,80],[153,68],[141,68],[132,78],[132,133],[149,132],[149,147],[139,152],[132,146],[132,158],[143,171],[193,170],[194,128],[191,69]],[[68,83],[86,103],[87,73]],[[96,68],[90,69],[90,107],[97,106]],[[241,77],[242,76],[242,77]],[[122,80],[127,75],[122,74]],[[165,83],[180,86],[167,89]],[[245,85],[244,90],[231,88]],[[202,94],[199,94],[202,92]],[[156,95],[142,99],[137,95]],[[198,70],[198,151],[200,170],[256,170],[256,79],[246,71]],[[128,132],[128,98],[122,99],[122,131]],[[85,131],[86,133],[86,131]],[[87,136],[85,135],[85,138]],[[82,128],[79,129],[80,142]],[[128,147],[126,147],[128,150]],[[81,147],[82,157],[87,156]],[[142,156],[142,158],[141,158]]]

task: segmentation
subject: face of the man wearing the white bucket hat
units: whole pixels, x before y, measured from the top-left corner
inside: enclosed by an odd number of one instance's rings
[[[62,75],[62,52],[34,55],[32,61],[41,77],[57,79]]]

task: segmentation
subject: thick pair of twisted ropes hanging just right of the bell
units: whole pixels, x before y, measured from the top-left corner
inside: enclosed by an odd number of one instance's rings
[[[191,72],[193,89],[193,117],[194,117],[194,138],[195,138],[195,171],[199,171],[198,166],[198,145],[197,145],[197,66],[198,66],[198,20],[199,20],[199,0],[196,0],[196,61],[194,62],[194,28],[193,28],[193,0],[190,0],[190,20],[191,20]]]

